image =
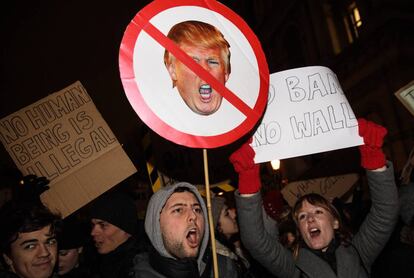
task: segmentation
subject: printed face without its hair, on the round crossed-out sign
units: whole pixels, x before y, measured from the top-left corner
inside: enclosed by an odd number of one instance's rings
[[[226,83],[229,74],[226,61],[223,60],[222,49],[200,48],[187,43],[181,43],[180,48],[220,83]],[[193,112],[210,115],[220,108],[223,97],[179,59],[171,58],[168,72],[180,96]]]

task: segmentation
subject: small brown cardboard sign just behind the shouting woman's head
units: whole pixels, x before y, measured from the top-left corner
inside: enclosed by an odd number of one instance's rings
[[[328,200],[341,197],[351,189],[358,179],[358,174],[347,174],[291,182],[281,192],[286,202],[293,207],[298,198],[308,193],[318,193]]]

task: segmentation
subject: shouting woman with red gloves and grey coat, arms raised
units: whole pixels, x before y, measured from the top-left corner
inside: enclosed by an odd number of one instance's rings
[[[387,130],[358,120],[361,165],[367,170],[372,206],[359,231],[344,232],[335,207],[318,194],[302,196],[293,208],[299,241],[293,253],[277,238],[277,226],[263,220],[259,165],[244,144],[230,161],[239,174],[235,192],[242,242],[251,255],[279,278],[369,277],[398,219],[397,187],[391,162],[381,150]]]

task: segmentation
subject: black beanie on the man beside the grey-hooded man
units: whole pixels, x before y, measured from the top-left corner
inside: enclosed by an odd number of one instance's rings
[[[111,193],[92,203],[91,218],[111,223],[134,236],[138,230],[137,209],[134,200],[124,193]]]

